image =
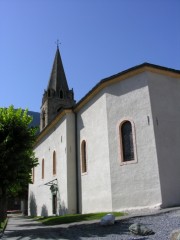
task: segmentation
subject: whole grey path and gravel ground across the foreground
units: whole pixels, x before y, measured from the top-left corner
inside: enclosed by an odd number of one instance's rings
[[[61,239],[61,240],[168,240],[171,232],[180,229],[180,209],[170,212],[157,212],[155,215],[139,217],[123,217],[117,219],[113,226],[102,227],[99,222],[83,222],[63,224],[58,226],[43,226],[32,219],[10,218],[2,239]],[[144,213],[146,214],[146,213]],[[129,232],[129,226],[141,223],[151,228],[155,234],[150,236],[135,236]]]

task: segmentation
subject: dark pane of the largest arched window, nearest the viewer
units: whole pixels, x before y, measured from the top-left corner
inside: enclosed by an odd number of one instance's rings
[[[135,145],[134,145],[134,129],[130,121],[125,120],[120,124],[120,138],[121,138],[121,161],[129,162],[135,159]]]

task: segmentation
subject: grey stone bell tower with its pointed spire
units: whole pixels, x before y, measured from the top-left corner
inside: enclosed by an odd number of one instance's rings
[[[42,98],[40,131],[56,117],[61,109],[71,108],[74,104],[73,89],[69,90],[59,47],[57,46],[48,86]]]

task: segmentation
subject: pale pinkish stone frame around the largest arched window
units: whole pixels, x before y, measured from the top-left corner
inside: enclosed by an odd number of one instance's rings
[[[124,156],[123,156],[123,140],[122,140],[122,125],[125,122],[130,122],[131,123],[131,128],[132,128],[132,141],[133,141],[133,152],[134,152],[134,159],[125,161]],[[130,118],[123,118],[118,124],[118,136],[119,136],[119,158],[120,158],[120,165],[128,165],[132,163],[137,163],[137,147],[136,147],[136,133],[135,133],[135,124]]]

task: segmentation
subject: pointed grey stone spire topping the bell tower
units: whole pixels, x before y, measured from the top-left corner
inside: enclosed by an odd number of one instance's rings
[[[47,90],[49,89],[53,89],[56,93],[60,90],[69,91],[58,45],[47,87]]]

